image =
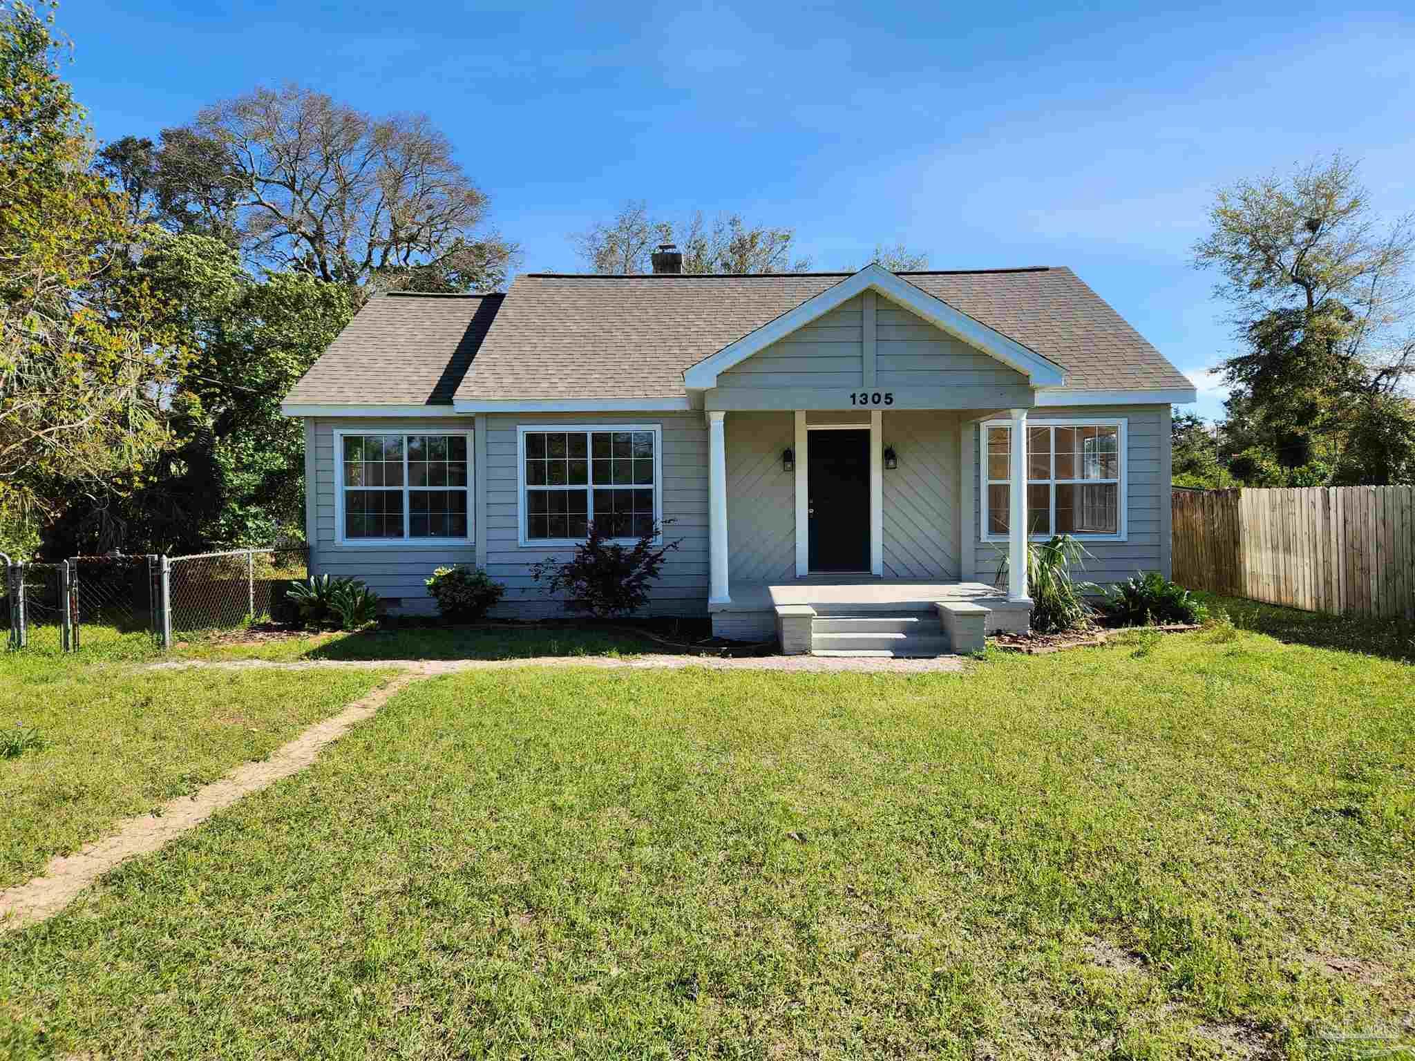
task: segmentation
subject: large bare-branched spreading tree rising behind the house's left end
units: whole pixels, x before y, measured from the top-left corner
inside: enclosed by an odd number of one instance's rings
[[[190,127],[163,130],[160,150],[130,140],[105,151],[106,171],[149,190],[164,228],[229,239],[253,269],[494,290],[516,255],[483,231],[487,195],[426,115],[374,117],[287,85],[204,108]]]

